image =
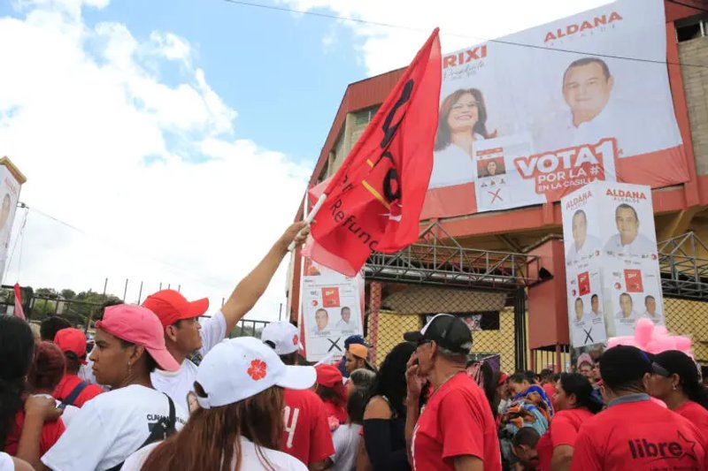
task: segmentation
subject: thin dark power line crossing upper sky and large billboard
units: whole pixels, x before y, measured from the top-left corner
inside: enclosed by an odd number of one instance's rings
[[[358,24],[362,24],[362,25],[372,25],[372,26],[376,26],[376,27],[389,27],[389,28],[394,28],[394,29],[404,29],[407,31],[415,31],[415,32],[419,32],[419,33],[430,33],[430,31],[431,31],[431,29],[427,29],[427,28],[408,27],[405,25],[396,25],[396,24],[392,24],[392,23],[384,23],[381,21],[370,21],[367,19],[342,17],[342,16],[338,16],[335,14],[330,14],[330,13],[321,13],[319,11],[296,10],[294,8],[288,8],[288,7],[284,7],[284,6],[256,4],[256,3],[252,3],[252,2],[246,2],[243,0],[223,0],[223,1],[226,2],[227,4],[250,6],[250,7],[254,7],[254,8],[261,8],[264,10],[274,10],[274,11],[283,11],[283,12],[289,12],[289,13],[298,13],[298,14],[302,14],[302,15],[309,15],[309,16],[325,18],[325,19],[336,19],[339,21],[349,21],[352,23],[358,23]],[[674,3],[676,3],[676,2],[674,2]],[[687,6],[689,6],[689,5],[687,5]],[[696,7],[692,6],[692,8],[696,8]],[[700,10],[700,9],[698,9],[698,10]],[[475,40],[478,42],[496,42],[497,44],[504,44],[507,46],[516,46],[516,47],[520,47],[520,48],[529,48],[529,49],[543,49],[543,50],[547,50],[550,52],[565,52],[568,54],[581,54],[583,56],[607,57],[607,58],[611,58],[611,59],[620,59],[620,60],[633,60],[636,62],[644,62],[644,63],[650,63],[650,64],[681,65],[683,67],[697,67],[697,68],[708,69],[708,65],[703,65],[703,64],[686,64],[686,63],[681,63],[681,62],[669,62],[666,60],[644,59],[641,57],[627,57],[627,56],[616,56],[616,55],[612,55],[612,54],[600,54],[598,52],[588,52],[588,51],[582,51],[582,50],[549,48],[546,46],[538,46],[536,44],[527,44],[524,42],[505,41],[505,40],[501,40],[501,39],[488,39],[488,38],[483,38],[481,36],[471,36],[469,34],[458,34],[458,33],[447,33],[447,32],[445,34],[448,36],[453,36],[453,37],[458,37],[458,38],[472,39],[472,40]]]

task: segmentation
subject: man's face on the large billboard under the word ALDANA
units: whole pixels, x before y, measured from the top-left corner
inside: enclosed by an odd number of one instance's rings
[[[563,80],[563,97],[579,125],[595,118],[610,100],[612,77],[604,76],[602,65],[592,62],[571,67]]]

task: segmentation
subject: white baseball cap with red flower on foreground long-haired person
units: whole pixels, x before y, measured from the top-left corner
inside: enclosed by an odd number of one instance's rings
[[[204,409],[227,406],[255,396],[272,386],[304,390],[312,387],[317,372],[312,367],[287,366],[273,348],[258,338],[227,338],[204,356],[196,382],[206,398],[196,395]]]

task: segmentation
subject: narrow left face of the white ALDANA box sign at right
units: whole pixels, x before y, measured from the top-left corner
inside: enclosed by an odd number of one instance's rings
[[[604,319],[602,241],[596,190],[585,186],[561,201],[566,247],[568,327],[574,348],[607,340]]]

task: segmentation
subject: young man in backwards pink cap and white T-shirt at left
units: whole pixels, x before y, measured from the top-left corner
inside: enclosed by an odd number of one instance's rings
[[[176,371],[180,365],[167,352],[162,324],[149,309],[127,304],[105,308],[96,322],[91,360],[96,380],[112,391],[84,404],[41,461],[27,457],[38,471],[118,468],[136,450],[187,422],[181,406],[152,388],[154,368]]]

